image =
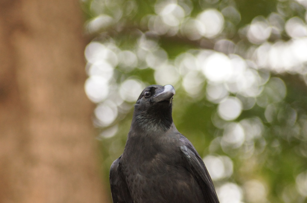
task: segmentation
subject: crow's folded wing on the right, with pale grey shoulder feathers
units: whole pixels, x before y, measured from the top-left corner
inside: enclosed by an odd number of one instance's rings
[[[219,199],[216,195],[212,179],[208,173],[208,170],[196,152],[196,149],[192,143],[184,136],[180,137],[182,145],[180,146],[181,151],[184,154],[185,161],[187,162],[187,169],[194,175],[200,187],[203,190],[206,202],[208,203],[219,203]]]

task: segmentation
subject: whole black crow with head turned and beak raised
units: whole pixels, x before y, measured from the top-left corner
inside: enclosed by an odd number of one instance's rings
[[[211,177],[172,118],[172,85],[146,87],[122,155],[110,169],[114,203],[219,203]]]

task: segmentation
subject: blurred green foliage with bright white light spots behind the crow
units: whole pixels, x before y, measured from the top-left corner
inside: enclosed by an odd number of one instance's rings
[[[204,157],[221,203],[307,202],[306,0],[81,5],[106,179],[138,95],[170,83],[174,123]]]

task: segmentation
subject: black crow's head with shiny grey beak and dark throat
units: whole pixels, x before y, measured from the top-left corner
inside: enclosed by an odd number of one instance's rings
[[[134,106],[132,125],[144,131],[166,131],[173,123],[172,85],[150,85],[140,94]]]

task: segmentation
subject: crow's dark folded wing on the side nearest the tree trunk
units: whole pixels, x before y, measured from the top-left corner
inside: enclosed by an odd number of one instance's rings
[[[119,160],[116,159],[110,168],[110,185],[113,203],[133,203],[128,186],[124,180],[120,169]]]

